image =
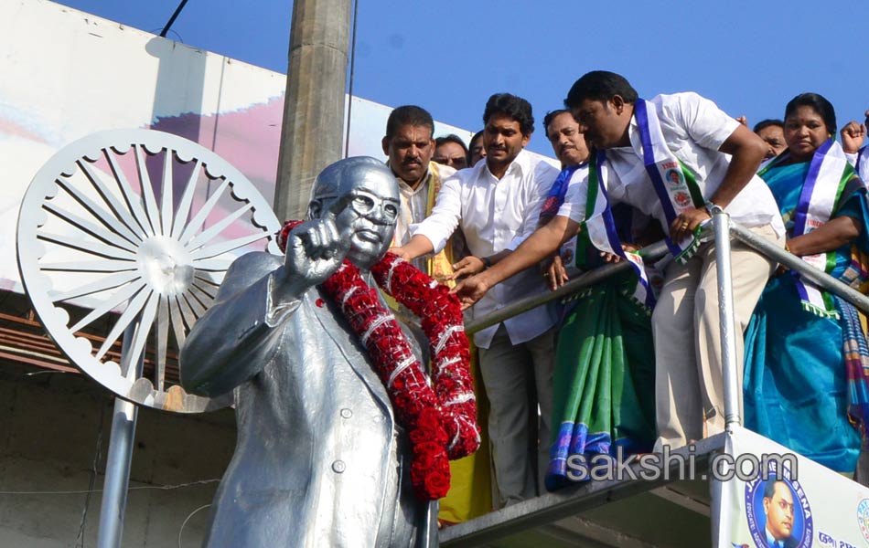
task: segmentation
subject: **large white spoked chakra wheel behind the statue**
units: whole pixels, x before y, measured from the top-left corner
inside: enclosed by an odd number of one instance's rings
[[[18,268],[72,364],[135,404],[197,413],[231,396],[187,394],[178,348],[232,260],[280,253],[280,227],[251,182],[196,142],[99,132],[34,177],[18,217]]]

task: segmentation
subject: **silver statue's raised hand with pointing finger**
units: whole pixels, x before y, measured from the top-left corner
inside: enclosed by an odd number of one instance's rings
[[[335,216],[302,223],[287,237],[284,271],[288,280],[306,287],[325,281],[344,262],[350,250],[350,235],[338,233]]]

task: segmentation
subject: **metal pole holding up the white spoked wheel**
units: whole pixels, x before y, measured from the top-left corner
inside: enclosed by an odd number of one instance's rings
[[[145,364],[145,353],[139,356],[136,364],[129,364],[127,349],[133,341],[136,329],[141,329],[140,321],[134,321],[123,332],[121,366],[127,371],[136,370],[141,375]],[[97,534],[97,548],[119,548],[123,532],[123,513],[127,505],[127,490],[130,486],[130,464],[133,461],[133,441],[135,422],[139,409],[134,404],[116,397],[112,413],[112,433],[109,437],[109,452],[105,462],[105,479],[102,482],[102,504],[100,505],[100,530]]]

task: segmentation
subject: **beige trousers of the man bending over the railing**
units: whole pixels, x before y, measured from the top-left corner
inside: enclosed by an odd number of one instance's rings
[[[751,229],[784,247],[770,226]],[[767,279],[777,264],[734,241],[731,248],[735,304],[736,370],[742,416],[743,337]],[[655,415],[658,441],[680,448],[724,431],[724,375],[718,318],[715,246],[705,244],[684,265],[672,261],[652,313],[655,341]]]

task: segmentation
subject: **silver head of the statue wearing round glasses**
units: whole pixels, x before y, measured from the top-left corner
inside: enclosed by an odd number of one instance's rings
[[[392,245],[392,233],[401,210],[398,184],[388,168],[360,166],[349,175],[347,192],[330,204],[338,233],[349,234],[350,262],[370,269]]]

